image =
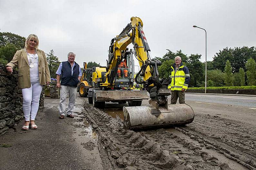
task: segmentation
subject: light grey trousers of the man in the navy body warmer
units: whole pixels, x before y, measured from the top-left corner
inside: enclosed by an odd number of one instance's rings
[[[76,87],[61,85],[60,104],[59,104],[60,115],[65,115],[66,98],[68,94],[69,94],[69,102],[68,102],[67,115],[71,115],[73,113],[74,105],[75,105]]]

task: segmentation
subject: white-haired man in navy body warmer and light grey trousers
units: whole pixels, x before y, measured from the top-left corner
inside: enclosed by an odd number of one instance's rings
[[[65,103],[68,94],[69,103],[67,117],[74,118],[72,113],[75,104],[76,87],[82,77],[82,70],[74,60],[75,54],[72,52],[68,53],[68,61],[61,62],[58,70],[56,71],[56,87],[61,88],[59,104],[60,119],[64,119],[65,116]]]

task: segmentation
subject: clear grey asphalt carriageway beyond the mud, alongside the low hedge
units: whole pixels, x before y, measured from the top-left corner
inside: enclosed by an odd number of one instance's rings
[[[245,106],[255,108],[256,112],[256,96],[242,95],[215,95],[215,94],[192,94],[186,93],[185,101],[190,100],[198,103],[209,103],[212,105],[223,104],[231,106]]]

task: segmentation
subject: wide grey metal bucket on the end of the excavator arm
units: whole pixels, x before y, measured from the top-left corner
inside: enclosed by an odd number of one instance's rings
[[[194,111],[187,104],[160,106],[123,107],[124,129],[176,126],[192,123]]]

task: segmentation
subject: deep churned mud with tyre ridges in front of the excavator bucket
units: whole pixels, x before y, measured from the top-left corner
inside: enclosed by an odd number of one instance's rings
[[[99,150],[108,169],[254,169],[228,155],[227,149],[219,149],[219,141],[204,140],[203,135],[194,128],[195,125],[191,128],[176,127],[174,132],[164,129],[135,132],[124,130],[123,120],[119,117],[112,118],[87,102],[84,104],[84,112],[87,120],[97,128]],[[206,148],[210,150],[209,153]],[[219,155],[215,156],[216,153]],[[221,159],[218,160],[218,157]],[[228,161],[233,161],[235,166],[230,168],[225,163],[226,157],[231,158]]]

